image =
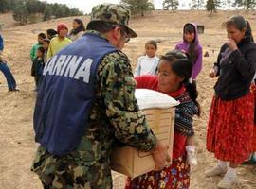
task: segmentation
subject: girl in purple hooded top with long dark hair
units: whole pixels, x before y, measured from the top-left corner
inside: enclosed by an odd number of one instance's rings
[[[196,80],[202,70],[203,55],[195,24],[187,23],[183,27],[183,42],[177,43],[175,49],[181,50],[188,56],[189,60],[192,60],[192,80]]]

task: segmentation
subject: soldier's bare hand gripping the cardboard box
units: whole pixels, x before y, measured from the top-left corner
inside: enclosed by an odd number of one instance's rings
[[[155,160],[155,170],[161,170],[165,167],[167,162],[171,161],[170,155],[168,154],[168,145],[158,141],[157,145],[153,150],[153,158]]]

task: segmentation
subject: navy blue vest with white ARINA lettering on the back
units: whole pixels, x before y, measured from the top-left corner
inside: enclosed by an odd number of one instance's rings
[[[64,47],[47,61],[34,111],[35,141],[54,154],[79,146],[95,99],[95,82],[102,58],[118,51],[95,34]]]

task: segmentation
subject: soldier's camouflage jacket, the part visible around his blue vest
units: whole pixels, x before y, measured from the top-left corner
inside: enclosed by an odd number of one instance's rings
[[[111,188],[110,153],[116,141],[145,151],[155,147],[155,135],[148,128],[145,115],[138,110],[136,81],[126,55],[121,52],[106,55],[96,80],[96,101],[77,150],[53,156],[43,146],[38,148],[32,171],[48,186]]]

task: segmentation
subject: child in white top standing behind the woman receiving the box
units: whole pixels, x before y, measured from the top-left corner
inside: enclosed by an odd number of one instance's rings
[[[137,59],[135,77],[142,75],[156,75],[159,58],[155,55],[157,43],[154,40],[145,44],[145,55]]]

